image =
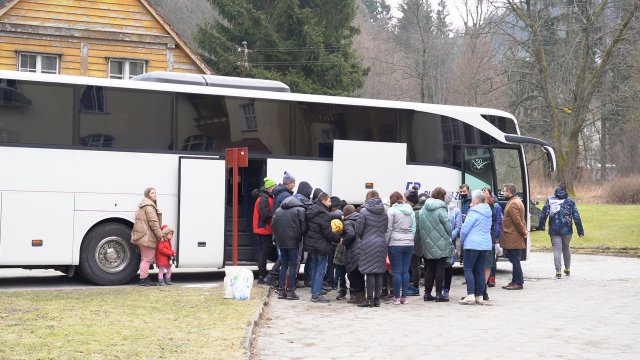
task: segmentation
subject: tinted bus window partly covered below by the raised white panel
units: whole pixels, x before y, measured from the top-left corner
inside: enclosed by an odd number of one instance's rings
[[[333,140],[398,141],[397,110],[299,103],[295,111],[297,156],[333,157]]]

